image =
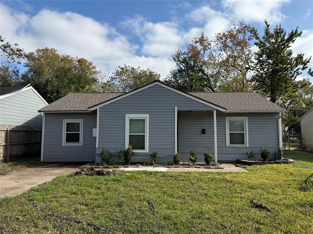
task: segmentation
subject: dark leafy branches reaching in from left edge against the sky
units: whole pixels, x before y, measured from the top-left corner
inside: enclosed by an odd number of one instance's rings
[[[23,49],[18,48],[18,44],[10,44],[5,41],[5,37],[0,35],[0,51],[1,51],[1,65],[11,66],[14,63],[21,64],[21,60],[25,58]]]

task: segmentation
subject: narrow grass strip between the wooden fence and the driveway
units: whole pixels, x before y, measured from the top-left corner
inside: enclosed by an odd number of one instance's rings
[[[5,175],[12,171],[18,171],[31,166],[41,165],[40,158],[27,158],[9,163],[0,163],[0,175]]]

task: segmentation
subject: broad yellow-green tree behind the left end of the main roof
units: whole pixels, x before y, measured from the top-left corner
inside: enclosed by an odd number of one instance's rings
[[[48,102],[54,102],[70,92],[89,91],[96,82],[96,67],[92,62],[69,55],[59,55],[55,49],[38,49],[26,55],[25,71],[20,84],[31,84]]]

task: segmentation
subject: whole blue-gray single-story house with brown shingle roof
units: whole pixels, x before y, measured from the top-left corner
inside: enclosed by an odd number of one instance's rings
[[[157,162],[182,160],[195,150],[218,161],[246,151],[282,146],[285,109],[254,92],[183,92],[154,81],[127,93],[70,93],[39,110],[44,114],[41,160],[100,161],[100,146],[114,153],[131,144],[133,162],[157,152]]]

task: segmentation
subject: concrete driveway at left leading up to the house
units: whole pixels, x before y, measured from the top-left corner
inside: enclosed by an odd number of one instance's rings
[[[0,176],[0,198],[16,196],[26,192],[31,187],[50,181],[59,175],[77,170],[80,165],[49,164],[40,167],[27,168]]]

